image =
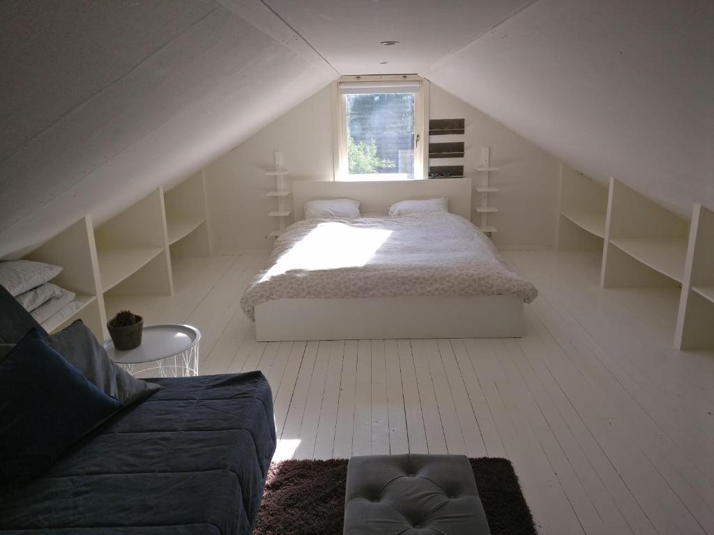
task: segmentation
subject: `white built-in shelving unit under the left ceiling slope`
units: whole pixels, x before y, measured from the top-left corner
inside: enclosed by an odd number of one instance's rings
[[[107,317],[135,297],[173,294],[171,255],[208,253],[205,177],[198,173],[169,191],[152,191],[96,228],[86,215],[24,258],[60,265],[52,282],[83,303],[56,330],[81,319],[106,340]]]

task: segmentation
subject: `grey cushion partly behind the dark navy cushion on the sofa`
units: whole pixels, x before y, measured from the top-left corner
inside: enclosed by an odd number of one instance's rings
[[[126,405],[149,397],[161,389],[158,384],[131,377],[117,366],[81,320],[76,320],[69,327],[46,338],[49,345],[79,368],[84,377],[105,394],[116,397]]]

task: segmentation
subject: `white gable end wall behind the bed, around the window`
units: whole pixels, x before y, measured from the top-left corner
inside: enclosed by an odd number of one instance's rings
[[[333,179],[330,98],[327,86],[208,165],[208,213],[215,254],[272,248],[268,233],[277,224],[267,213],[276,203],[265,194],[275,183],[263,173],[273,167],[273,151],[283,153],[283,165],[290,171],[288,184]],[[493,197],[501,212],[491,219],[498,228],[496,245],[501,249],[552,248],[558,160],[434,84],[430,113],[432,118],[466,118],[463,162],[474,180],[481,146],[491,146],[491,163],[502,169],[491,175],[501,188]],[[439,137],[433,141],[451,139]],[[434,165],[447,162],[434,161]],[[473,221],[478,217],[475,214]]]

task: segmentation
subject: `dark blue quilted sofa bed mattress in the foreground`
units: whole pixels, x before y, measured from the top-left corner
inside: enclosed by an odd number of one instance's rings
[[[263,374],[151,379],[164,389],[0,496],[1,534],[249,534],[275,452]]]

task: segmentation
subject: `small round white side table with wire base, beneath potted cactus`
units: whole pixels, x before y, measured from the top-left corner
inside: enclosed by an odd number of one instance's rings
[[[121,351],[111,339],[104,342],[109,358],[137,377],[191,377],[198,375],[198,342],[201,331],[191,325],[147,325],[141,345]]]

